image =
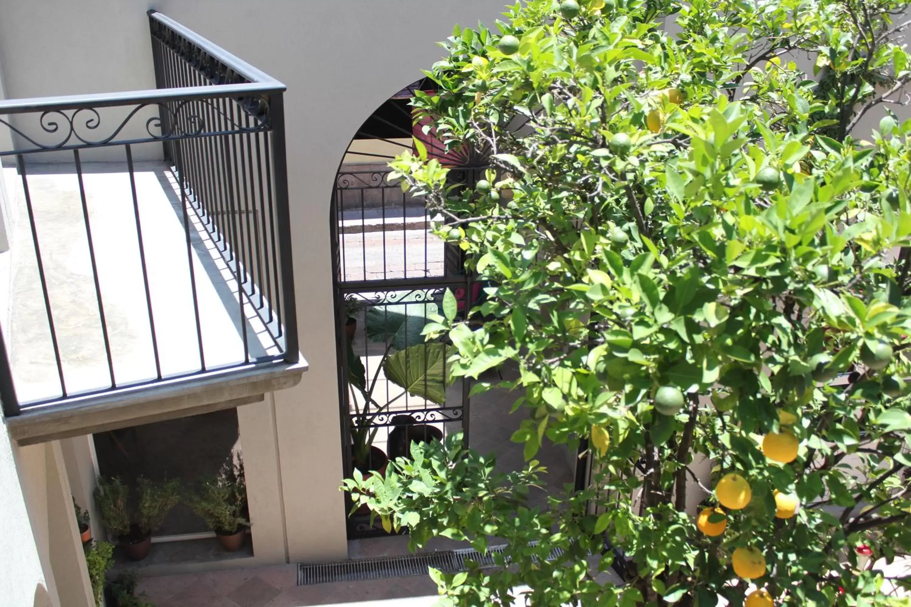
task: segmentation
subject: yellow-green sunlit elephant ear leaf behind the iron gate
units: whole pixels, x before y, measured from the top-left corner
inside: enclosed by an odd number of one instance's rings
[[[386,378],[409,394],[442,405],[452,384],[453,363],[442,343],[426,343],[395,352],[384,364]]]

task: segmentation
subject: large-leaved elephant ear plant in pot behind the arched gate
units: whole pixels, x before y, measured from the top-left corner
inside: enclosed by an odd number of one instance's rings
[[[367,310],[364,321],[367,338],[384,345],[383,355],[373,365],[373,377],[369,381],[363,361],[354,354],[351,341],[347,344],[347,396],[353,409],[352,462],[353,468],[365,477],[373,471],[384,474],[389,461],[384,451],[374,446],[381,427],[374,425],[377,416],[388,415],[394,402],[406,394],[443,404],[446,386],[453,381],[445,343],[425,343],[422,335],[425,325],[438,312],[435,303],[426,302],[428,298],[429,293],[415,291],[394,304]],[[381,373],[401,391],[378,390]],[[380,393],[387,395],[383,402],[378,399]]]

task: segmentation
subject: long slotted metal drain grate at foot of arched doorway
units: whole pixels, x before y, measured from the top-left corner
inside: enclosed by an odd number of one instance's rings
[[[426,575],[428,567],[445,573],[455,573],[467,569],[466,561],[475,561],[481,567],[494,567],[496,565],[494,554],[502,553],[505,550],[506,546],[491,546],[485,554],[472,548],[465,548],[312,565],[301,563],[297,566],[297,585],[309,586],[327,582],[358,582]],[[548,561],[557,559],[562,554],[562,550],[554,549],[548,555]]]

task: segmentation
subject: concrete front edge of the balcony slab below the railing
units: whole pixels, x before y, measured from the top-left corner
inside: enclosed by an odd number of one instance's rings
[[[10,436],[20,445],[175,420],[231,409],[263,400],[267,392],[292,388],[301,381],[305,360],[220,369],[189,378],[115,389],[27,408],[6,418]]]

